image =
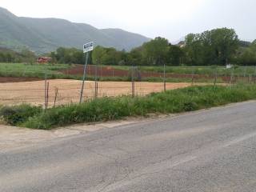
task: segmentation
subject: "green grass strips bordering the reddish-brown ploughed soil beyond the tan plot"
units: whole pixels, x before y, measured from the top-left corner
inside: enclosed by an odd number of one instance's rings
[[[66,78],[66,79],[81,79],[82,75],[70,75],[63,74],[60,70],[68,70],[74,67],[74,65],[68,64],[24,64],[24,63],[0,63],[0,77],[24,77],[24,78]],[[119,70],[130,70],[130,66],[110,66]],[[138,70],[145,72],[158,72],[162,73],[162,66],[138,66]],[[166,73],[171,74],[201,74],[213,77],[214,74],[218,76],[230,76],[234,73],[234,76],[240,77],[256,77],[256,68],[254,66],[239,66],[233,69],[226,69],[221,66],[166,66]],[[87,76],[87,80],[94,80],[93,76]],[[130,81],[130,77],[99,77],[100,81]],[[137,81],[138,79],[135,79]],[[142,81],[146,82],[162,82],[162,78],[144,77]],[[213,82],[213,79],[207,79],[204,77],[194,80],[196,82]],[[179,78],[166,78],[166,82],[191,82],[191,78],[179,77]],[[222,82],[221,78],[218,78],[218,82]]]

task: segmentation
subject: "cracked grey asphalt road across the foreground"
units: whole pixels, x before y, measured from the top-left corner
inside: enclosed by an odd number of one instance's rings
[[[0,191],[256,191],[256,102],[2,152]]]

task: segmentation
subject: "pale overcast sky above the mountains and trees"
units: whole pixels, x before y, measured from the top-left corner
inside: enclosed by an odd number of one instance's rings
[[[256,38],[256,0],[0,0],[13,14],[64,18],[102,28],[121,28],[170,42],[219,27],[240,39]]]

